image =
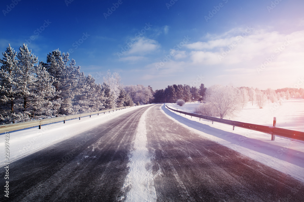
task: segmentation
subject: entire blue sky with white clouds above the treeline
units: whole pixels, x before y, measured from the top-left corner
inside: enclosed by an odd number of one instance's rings
[[[0,8],[1,52],[26,43],[45,61],[58,48],[100,83],[110,69],[125,85],[154,90],[304,88],[302,0],[2,0]]]

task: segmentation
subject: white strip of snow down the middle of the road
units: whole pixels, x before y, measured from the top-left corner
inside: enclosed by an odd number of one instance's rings
[[[152,202],[157,199],[154,175],[151,168],[151,155],[147,149],[146,114],[150,108],[143,113],[137,126],[134,148],[130,154],[130,162],[128,164],[130,172],[123,185],[123,190],[129,190],[125,201]]]

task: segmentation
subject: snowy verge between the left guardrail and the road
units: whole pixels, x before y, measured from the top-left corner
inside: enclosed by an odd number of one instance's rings
[[[114,119],[121,114],[133,111],[147,105],[131,107],[119,111],[105,114],[93,115],[81,118],[81,120],[72,119],[65,122],[42,125],[41,129],[37,127],[22,129],[9,132],[9,160],[16,161],[29,154],[33,154],[45,147],[57,142],[63,141],[76,134],[84,132],[94,126]],[[0,135],[0,145],[4,147],[4,133]],[[5,162],[4,152],[0,154],[0,165]]]

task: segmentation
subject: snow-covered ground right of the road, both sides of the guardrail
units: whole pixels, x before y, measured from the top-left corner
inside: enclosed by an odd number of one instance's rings
[[[193,113],[198,105],[199,103],[186,103],[180,107],[177,104],[168,104],[190,113]],[[255,104],[252,106],[248,103],[232,120],[272,126],[273,117],[276,117],[277,127],[304,131],[303,99],[285,100],[282,105],[277,105],[277,109],[275,107],[275,103],[267,103],[263,109],[259,109]],[[208,120],[199,121],[198,118],[172,112],[164,106],[162,109],[169,118],[192,131],[304,182],[303,141],[278,136],[275,141],[271,141],[269,134],[238,127],[233,131],[230,125],[217,122],[212,124]]]

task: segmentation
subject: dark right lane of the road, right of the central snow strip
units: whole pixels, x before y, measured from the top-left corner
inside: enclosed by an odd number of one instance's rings
[[[303,200],[302,182],[181,127],[159,106],[147,114],[159,201]]]

